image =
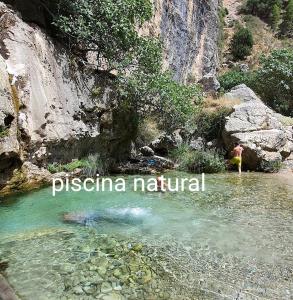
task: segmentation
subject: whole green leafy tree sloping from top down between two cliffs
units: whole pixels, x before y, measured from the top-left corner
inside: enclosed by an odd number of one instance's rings
[[[198,86],[185,86],[162,72],[162,45],[138,34],[152,16],[150,0],[60,0],[55,6],[59,35],[98,74],[111,78],[118,105],[138,117],[157,114],[162,127],[182,125],[201,102]]]

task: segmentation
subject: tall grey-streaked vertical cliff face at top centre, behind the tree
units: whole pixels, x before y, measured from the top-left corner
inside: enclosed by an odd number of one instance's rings
[[[219,0],[155,0],[155,16],[141,32],[161,37],[165,68],[180,82],[215,75]]]

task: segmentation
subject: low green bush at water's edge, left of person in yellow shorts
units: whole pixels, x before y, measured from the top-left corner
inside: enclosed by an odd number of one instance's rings
[[[171,152],[171,157],[179,163],[180,169],[192,173],[224,172],[224,158],[212,150],[191,150],[188,145],[181,145]]]

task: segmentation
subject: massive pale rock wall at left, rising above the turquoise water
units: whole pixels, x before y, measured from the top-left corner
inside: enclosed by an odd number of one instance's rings
[[[121,154],[128,137],[119,131],[131,134],[131,122],[119,124],[109,85],[1,2],[0,47],[0,187],[24,161],[66,162],[110,147]]]

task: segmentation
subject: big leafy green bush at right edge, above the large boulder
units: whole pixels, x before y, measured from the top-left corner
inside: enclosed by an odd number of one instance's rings
[[[293,116],[293,50],[275,50],[260,63],[252,88],[277,112]]]

